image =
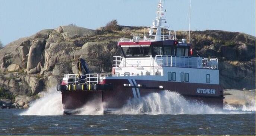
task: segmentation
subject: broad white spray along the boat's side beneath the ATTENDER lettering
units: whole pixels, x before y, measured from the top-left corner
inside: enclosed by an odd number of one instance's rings
[[[255,105],[254,105],[255,107]],[[140,99],[131,99],[115,114],[239,114],[248,113],[238,109],[224,110],[209,107],[200,101],[188,101],[178,93],[162,91],[151,93]],[[255,111],[255,109],[254,109]]]

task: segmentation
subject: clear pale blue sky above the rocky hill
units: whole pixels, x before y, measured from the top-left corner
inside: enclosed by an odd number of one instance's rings
[[[6,45],[42,29],[74,23],[96,29],[112,19],[150,26],[159,0],[1,0],[0,41]],[[188,30],[189,0],[165,0],[167,25]],[[192,0],[191,30],[227,30],[255,36],[255,0]]]

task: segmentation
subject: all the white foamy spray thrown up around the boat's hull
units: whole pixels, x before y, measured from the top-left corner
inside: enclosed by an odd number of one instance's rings
[[[43,92],[44,96],[32,102],[31,107],[20,113],[20,115],[63,115],[63,105],[61,103],[61,93],[51,88],[48,92]],[[98,105],[98,104],[97,104]],[[82,108],[76,109],[78,115],[102,115],[104,113],[103,105],[95,110],[95,103],[91,101],[86,103]],[[210,107],[202,102],[191,102],[186,100],[182,95],[162,91],[161,93],[151,93],[144,97],[133,98],[113,114],[243,114],[255,113],[255,102],[250,106],[241,108],[224,106],[223,109]]]

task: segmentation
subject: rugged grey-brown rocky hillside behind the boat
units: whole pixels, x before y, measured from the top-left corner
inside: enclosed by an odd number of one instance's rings
[[[55,87],[63,74],[77,73],[83,58],[92,72],[111,72],[114,55],[121,55],[117,41],[143,36],[147,27],[120,27],[106,31],[76,26],[41,30],[0,49],[0,85],[13,95],[36,95]],[[255,36],[220,30],[192,31],[194,55],[219,59],[224,88],[255,89]],[[177,32],[178,40],[184,32]],[[185,37],[187,37],[185,35]]]

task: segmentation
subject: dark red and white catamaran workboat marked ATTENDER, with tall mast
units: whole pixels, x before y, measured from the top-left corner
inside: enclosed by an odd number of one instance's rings
[[[57,85],[64,114],[73,114],[88,103],[96,110],[104,103],[104,111],[111,112],[130,99],[162,91],[177,92],[191,103],[223,108],[218,59],[192,56],[191,43],[178,41],[175,31],[162,35],[164,12],[160,0],[150,38],[120,39],[122,56],[114,56],[112,74],[91,73],[86,61],[78,59],[79,73],[65,74]]]

